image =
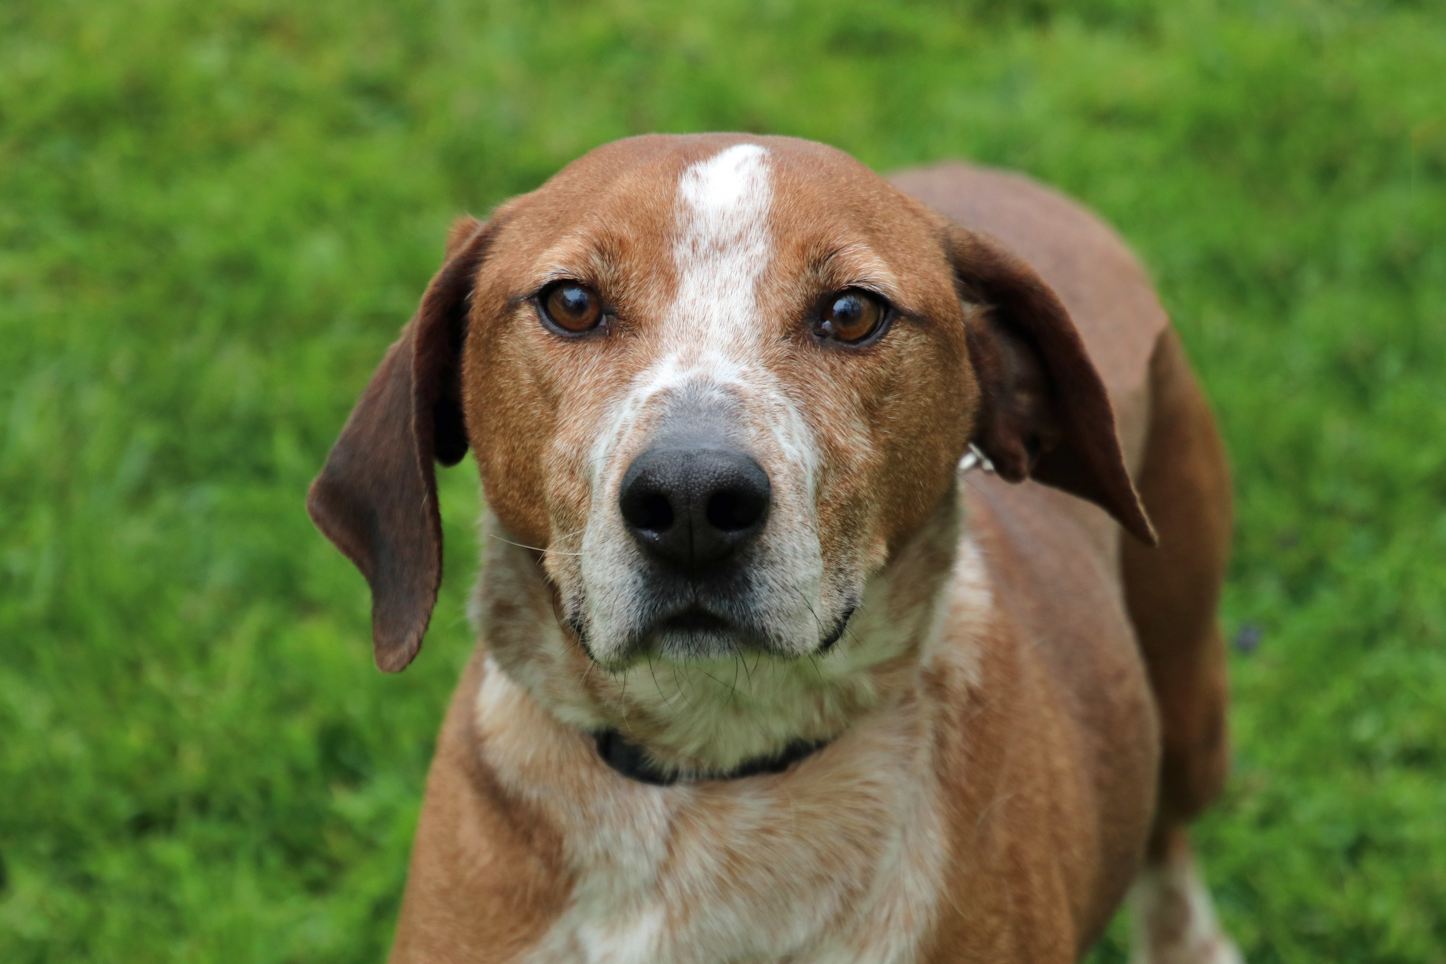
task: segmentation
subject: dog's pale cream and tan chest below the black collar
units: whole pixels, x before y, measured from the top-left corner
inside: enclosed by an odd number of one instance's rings
[[[515,684],[492,672],[483,689],[486,728]],[[930,726],[884,717],[777,778],[668,788],[495,741],[489,762],[558,828],[576,880],[521,960],[912,961],[947,850]]]

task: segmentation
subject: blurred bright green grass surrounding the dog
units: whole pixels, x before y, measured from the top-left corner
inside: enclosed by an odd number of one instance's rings
[[[1388,0],[0,4],[0,960],[380,960],[476,475],[401,676],[305,486],[454,214],[710,129],[1121,228],[1238,474],[1220,911],[1446,961],[1446,9]]]

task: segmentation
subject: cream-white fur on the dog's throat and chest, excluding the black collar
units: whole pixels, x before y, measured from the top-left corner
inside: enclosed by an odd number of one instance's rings
[[[847,731],[782,775],[672,786],[615,773],[573,728],[596,718],[596,697],[568,671],[570,645],[551,620],[536,567],[516,546],[489,539],[474,610],[492,653],[477,692],[477,746],[500,785],[560,831],[576,879],[565,909],[521,960],[915,961],[947,870],[936,734],[959,710],[924,697],[921,678],[934,673],[953,692],[975,692],[992,613],[977,548],[959,535],[957,503],[946,500],[901,552],[899,568],[870,580],[856,630],[817,669],[807,659],[753,669],[750,711],[797,733],[827,713],[834,688],[876,685],[870,666],[912,655]],[[902,598],[918,603],[901,613]],[[687,713],[680,705],[680,726],[694,717],[735,723],[713,715],[726,687],[655,689],[645,668],[593,685],[635,713],[656,713],[654,700],[674,694],[698,701]]]

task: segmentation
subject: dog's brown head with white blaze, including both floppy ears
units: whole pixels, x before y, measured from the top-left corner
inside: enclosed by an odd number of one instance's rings
[[[406,666],[470,445],[603,669],[833,646],[976,444],[1150,526],[1103,386],[1022,262],[816,143],[600,147],[447,260],[312,486]]]

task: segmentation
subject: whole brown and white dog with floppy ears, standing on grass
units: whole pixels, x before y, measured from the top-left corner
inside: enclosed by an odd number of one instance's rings
[[[1137,960],[1238,960],[1186,837],[1225,455],[1079,207],[706,134],[463,218],[308,500],[382,669],[467,447],[482,643],[393,961],[1073,961],[1132,882]]]

